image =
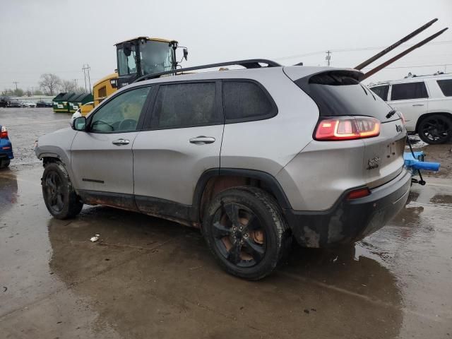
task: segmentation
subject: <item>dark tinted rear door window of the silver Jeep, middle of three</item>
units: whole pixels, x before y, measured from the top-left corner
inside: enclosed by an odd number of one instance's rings
[[[215,82],[160,85],[151,119],[156,129],[222,124]]]

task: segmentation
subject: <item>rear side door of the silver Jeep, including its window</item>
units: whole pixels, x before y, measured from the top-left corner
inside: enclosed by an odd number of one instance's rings
[[[162,83],[153,102],[147,131],[133,143],[136,204],[145,213],[186,219],[199,177],[220,167],[221,82]]]

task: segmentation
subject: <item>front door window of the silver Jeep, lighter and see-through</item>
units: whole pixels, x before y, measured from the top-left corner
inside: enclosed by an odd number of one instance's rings
[[[114,97],[100,107],[90,123],[90,131],[116,133],[135,131],[150,87],[136,88]]]

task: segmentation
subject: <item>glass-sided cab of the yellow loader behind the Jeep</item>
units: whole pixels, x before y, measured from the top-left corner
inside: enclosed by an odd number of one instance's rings
[[[140,76],[176,69],[177,41],[136,37],[117,47],[117,88],[133,83]]]

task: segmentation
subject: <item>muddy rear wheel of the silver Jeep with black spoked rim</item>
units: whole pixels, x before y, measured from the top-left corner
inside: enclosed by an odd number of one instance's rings
[[[215,196],[204,213],[202,231],[220,266],[248,280],[272,273],[292,242],[275,199],[248,186]]]

